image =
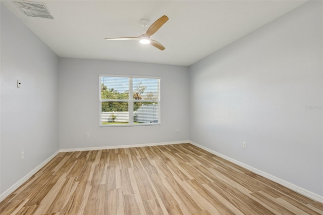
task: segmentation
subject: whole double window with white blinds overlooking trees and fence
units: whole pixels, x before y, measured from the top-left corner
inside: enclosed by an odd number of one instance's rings
[[[100,75],[100,126],[160,124],[160,79]]]

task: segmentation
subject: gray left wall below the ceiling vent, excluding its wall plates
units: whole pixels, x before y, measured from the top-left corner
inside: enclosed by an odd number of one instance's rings
[[[1,6],[0,193],[59,149],[58,60],[53,51]],[[20,89],[18,79],[22,81]]]

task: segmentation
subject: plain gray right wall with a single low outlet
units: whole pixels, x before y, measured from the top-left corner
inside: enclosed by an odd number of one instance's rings
[[[322,105],[322,2],[189,71],[191,141],[323,195],[322,110],[305,109]]]

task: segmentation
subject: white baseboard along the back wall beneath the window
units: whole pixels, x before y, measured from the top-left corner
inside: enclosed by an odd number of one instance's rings
[[[172,145],[189,143],[189,140],[185,141],[175,141],[175,142],[161,142],[161,143],[145,143],[145,144],[134,144],[134,145],[115,145],[115,146],[99,146],[99,147],[86,147],[86,148],[66,148],[60,149],[60,152],[71,152],[71,151],[92,151],[92,150],[102,150],[102,149],[115,149],[115,148],[134,148],[134,147],[145,147],[145,146],[155,146],[155,145]]]

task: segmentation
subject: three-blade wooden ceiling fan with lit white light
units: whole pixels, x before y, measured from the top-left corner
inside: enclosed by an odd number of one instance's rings
[[[153,35],[154,33],[156,33],[156,31],[158,31],[158,29],[163,26],[168,20],[167,16],[162,16],[159,19],[157,19],[154,23],[152,23],[149,28],[147,29],[147,32],[144,34],[141,34],[140,36],[137,37],[117,37],[117,38],[105,38],[106,40],[139,40],[140,43],[143,44],[148,44],[150,43],[152,46],[160,49],[160,50],[164,50],[165,47],[160,44],[159,42],[150,39],[150,36]],[[142,26],[147,26],[148,24],[148,20],[140,20],[142,23]]]

